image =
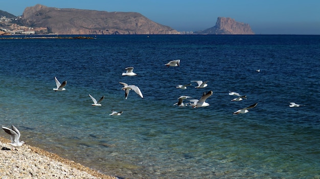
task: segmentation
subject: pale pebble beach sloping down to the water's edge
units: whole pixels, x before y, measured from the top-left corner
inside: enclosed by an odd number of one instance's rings
[[[8,142],[10,140],[0,136],[0,178],[118,179],[28,144],[11,150]]]

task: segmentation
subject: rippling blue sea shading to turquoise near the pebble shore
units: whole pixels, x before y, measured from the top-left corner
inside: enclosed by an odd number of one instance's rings
[[[320,36],[93,37],[0,39],[1,125],[119,178],[320,177]],[[165,66],[176,59],[179,67]],[[122,76],[130,66],[138,75]],[[53,90],[54,76],[65,91]],[[125,99],[119,82],[144,98]],[[210,90],[208,107],[173,106]],[[231,101],[229,91],[247,99]],[[88,94],[104,95],[102,106]]]

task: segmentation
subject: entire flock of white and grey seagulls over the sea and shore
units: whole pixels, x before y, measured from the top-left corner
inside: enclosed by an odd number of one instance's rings
[[[165,64],[165,66],[167,67],[175,67],[175,66],[180,66],[180,60],[172,60],[168,63]],[[127,67],[125,68],[126,72],[123,72],[122,75],[123,76],[135,76],[137,75],[136,73],[133,72],[133,67]],[[260,69],[256,70],[257,72],[260,72]],[[63,81],[62,84],[58,81],[58,79],[56,78],[56,76],[54,77],[55,82],[56,82],[56,86],[57,88],[53,88],[54,91],[64,91],[66,90],[64,87],[67,83],[67,81]],[[195,88],[197,89],[201,89],[201,88],[205,88],[208,86],[208,81],[191,81],[191,82],[195,82],[197,83],[198,86],[196,86]],[[123,85],[123,87],[121,88],[122,90],[125,91],[125,99],[128,98],[129,95],[129,91],[133,90],[136,94],[138,94],[141,98],[143,98],[143,94],[140,90],[140,88],[138,86],[135,85],[128,85],[126,83],[123,82],[119,82],[120,84]],[[191,86],[190,84],[187,85],[177,85],[176,88],[179,89],[187,89],[188,86]],[[207,100],[210,96],[212,96],[213,91],[210,90],[208,92],[204,92],[201,96],[200,99],[194,99],[191,96],[187,96],[187,95],[182,95],[180,96],[178,99],[178,102],[175,103],[173,106],[177,105],[179,107],[187,107],[187,106],[191,106],[192,108],[200,108],[200,107],[207,107],[210,106],[209,103],[205,102],[205,100]],[[237,96],[236,98],[232,99],[231,101],[241,101],[243,99],[247,99],[247,95],[240,95],[237,92],[229,92],[229,95],[235,95]],[[89,94],[89,97],[92,99],[93,103],[92,106],[102,106],[101,105],[101,101],[104,99],[104,95],[97,101],[92,95]],[[189,100],[189,103],[183,103],[184,100]],[[239,109],[236,112],[233,112],[234,115],[237,114],[244,114],[249,112],[248,109],[252,109],[255,108],[258,105],[258,103],[255,103],[249,107],[243,108],[243,109]],[[289,107],[300,107],[300,106],[304,106],[304,105],[299,105],[299,104],[295,104],[295,103],[290,103]],[[117,111],[113,111],[111,110],[111,114],[109,114],[109,116],[120,116],[123,112],[117,112]],[[8,127],[2,127],[3,130],[10,135],[11,138],[11,143],[9,143],[12,147],[21,147],[22,144],[24,144],[24,141],[19,141],[20,139],[20,132],[17,130],[17,128],[12,125],[11,129],[9,129]]]

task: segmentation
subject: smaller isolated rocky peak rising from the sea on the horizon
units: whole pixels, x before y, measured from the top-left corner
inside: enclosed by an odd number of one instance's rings
[[[230,17],[218,17],[212,28],[194,34],[255,34],[247,23],[237,22]]]

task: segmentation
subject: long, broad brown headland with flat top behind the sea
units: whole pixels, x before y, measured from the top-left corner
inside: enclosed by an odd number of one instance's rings
[[[46,27],[48,32],[67,34],[179,34],[135,12],[106,12],[58,9],[43,5],[27,7],[21,23],[27,27]]]

